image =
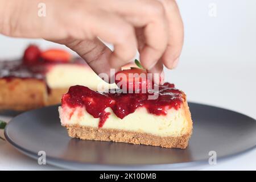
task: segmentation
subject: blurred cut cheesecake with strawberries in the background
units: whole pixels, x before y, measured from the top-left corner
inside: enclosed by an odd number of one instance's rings
[[[31,45],[22,59],[0,61],[0,110],[24,111],[59,104],[73,85],[98,91],[116,86],[101,80],[81,57]]]

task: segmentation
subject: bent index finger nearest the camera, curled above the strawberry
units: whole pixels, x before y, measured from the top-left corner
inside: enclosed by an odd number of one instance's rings
[[[102,40],[114,45],[109,57],[110,67],[119,71],[121,67],[134,59],[137,52],[137,39],[134,27],[124,19],[113,14],[96,16],[92,32]]]

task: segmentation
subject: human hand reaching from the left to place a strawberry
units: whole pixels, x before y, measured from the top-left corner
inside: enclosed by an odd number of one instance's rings
[[[45,3],[46,16],[38,16]],[[0,32],[43,38],[73,49],[97,73],[129,63],[138,48],[150,73],[176,66],[183,23],[174,0],[0,0]],[[114,45],[110,51],[98,38]]]

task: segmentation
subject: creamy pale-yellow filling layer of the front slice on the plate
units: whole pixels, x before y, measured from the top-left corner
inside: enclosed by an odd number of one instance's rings
[[[167,115],[154,115],[148,113],[145,107],[139,107],[123,119],[118,118],[110,107],[105,111],[110,114],[102,126],[103,129],[135,131],[159,137],[179,137],[190,132],[183,109],[172,108],[167,111]],[[80,125],[98,128],[100,122],[100,118],[94,118],[85,107],[59,107],[59,113],[63,126]]]

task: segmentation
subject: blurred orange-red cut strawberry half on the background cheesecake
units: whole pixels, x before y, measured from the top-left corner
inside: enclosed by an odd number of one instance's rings
[[[71,60],[71,54],[62,49],[48,49],[40,55],[44,61],[68,63]]]

